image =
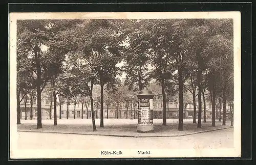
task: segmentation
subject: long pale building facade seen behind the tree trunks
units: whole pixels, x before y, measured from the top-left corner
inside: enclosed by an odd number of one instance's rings
[[[57,99],[58,100],[58,99]],[[163,102],[162,100],[154,100],[154,109],[153,109],[153,118],[154,119],[162,119],[163,118]],[[24,100],[20,103],[20,109],[21,109],[21,118],[25,119],[25,102]],[[89,103],[88,108],[83,104],[81,105],[81,102],[76,103],[76,106],[74,103],[69,104],[69,111],[67,111],[68,106],[67,103],[61,104],[61,111],[59,102],[57,102],[57,118],[60,117],[63,119],[66,119],[67,116],[70,119],[90,119],[92,118],[92,112],[91,112],[91,105]],[[27,118],[30,119],[30,110],[31,110],[31,104],[30,100],[27,100]],[[202,109],[203,111],[203,109]],[[186,108],[183,109],[183,119],[193,119],[193,112],[194,112],[194,106],[193,104],[188,104]],[[196,112],[198,113],[198,108],[196,108]],[[50,119],[50,101],[47,99],[41,100],[41,113],[42,113],[42,119]],[[51,108],[51,117],[53,118],[53,103]],[[227,106],[227,120],[230,120],[230,111]],[[98,106],[94,105],[94,115],[95,118],[100,118],[100,104]],[[223,115],[223,107],[221,108],[221,116]],[[37,118],[37,105],[36,101],[33,101],[32,106],[32,116],[33,119]],[[115,118],[115,119],[137,119],[138,118],[138,104],[133,103],[129,104],[128,107],[126,106],[126,103],[121,103],[118,106],[111,104],[107,106],[105,103],[103,103],[103,117],[104,118]],[[168,105],[166,105],[166,119],[178,119],[179,117],[179,104],[174,102],[169,102]],[[198,114],[196,114],[196,118],[198,117]],[[202,118],[203,118],[203,112],[202,112]],[[216,110],[216,118],[219,118],[219,112]],[[211,106],[210,104],[206,104],[206,119],[211,119]]]

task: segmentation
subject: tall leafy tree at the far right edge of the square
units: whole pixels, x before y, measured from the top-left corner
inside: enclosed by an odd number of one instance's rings
[[[233,22],[232,19],[213,19],[208,22],[210,28],[210,37],[206,42],[204,54],[209,56],[207,62],[208,68],[214,73],[216,82],[220,82],[213,89],[213,96],[216,90],[221,90],[223,94],[223,125],[226,121],[226,85],[227,82],[232,78],[232,54],[233,54]],[[217,79],[219,78],[219,81]],[[220,88],[220,89],[218,89]],[[215,100],[214,100],[215,101]],[[215,106],[215,103],[212,102]]]

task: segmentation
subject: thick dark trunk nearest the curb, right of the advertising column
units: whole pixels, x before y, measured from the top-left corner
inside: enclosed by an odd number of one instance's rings
[[[183,69],[178,70],[179,81],[179,125],[178,130],[183,130]]]

